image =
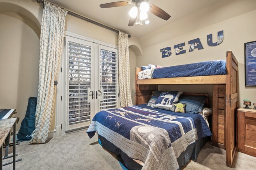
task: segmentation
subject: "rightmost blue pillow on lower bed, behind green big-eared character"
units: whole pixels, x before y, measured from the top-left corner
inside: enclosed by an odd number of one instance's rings
[[[200,113],[207,97],[205,96],[181,96],[179,103],[186,103],[186,113]]]

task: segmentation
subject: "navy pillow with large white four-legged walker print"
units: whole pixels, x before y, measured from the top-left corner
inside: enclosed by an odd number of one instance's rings
[[[178,102],[180,95],[184,91],[168,91],[168,92],[162,92],[158,99],[156,99],[156,102],[154,103],[153,107],[158,109],[164,109],[164,110],[171,110],[172,103]]]

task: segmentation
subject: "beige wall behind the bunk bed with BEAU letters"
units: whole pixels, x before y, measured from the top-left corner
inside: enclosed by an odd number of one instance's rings
[[[223,6],[221,6],[222,2]],[[232,50],[239,63],[239,104],[242,106],[243,99],[256,102],[256,89],[244,87],[244,43],[256,40],[256,23],[254,22],[256,1],[234,0],[219,1],[218,3],[219,6],[216,4],[209,6],[142,37],[140,41],[143,55],[136,57],[136,66],[147,64],[171,66],[226,59],[226,51]],[[220,30],[224,30],[224,41],[215,47],[208,46],[207,35],[213,34],[213,41],[216,42],[217,32]],[[188,41],[195,38],[200,38],[204,49],[188,52],[190,47]],[[183,42],[185,42],[186,53],[175,55],[173,46]],[[172,55],[162,58],[160,49],[168,46],[172,47]],[[160,86],[161,89],[206,92],[212,96],[212,86]]]

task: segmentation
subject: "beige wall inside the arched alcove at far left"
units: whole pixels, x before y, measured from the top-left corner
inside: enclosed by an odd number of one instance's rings
[[[0,14],[0,108],[16,108],[20,123],[38,92],[39,38],[16,14]],[[35,45],[36,44],[36,45]]]

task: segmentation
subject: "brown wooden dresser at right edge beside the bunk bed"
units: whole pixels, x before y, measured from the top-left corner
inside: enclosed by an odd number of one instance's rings
[[[239,152],[256,156],[256,110],[237,110],[236,146]]]

